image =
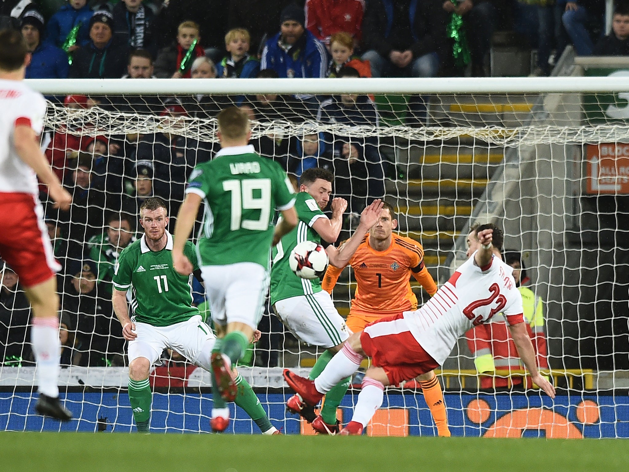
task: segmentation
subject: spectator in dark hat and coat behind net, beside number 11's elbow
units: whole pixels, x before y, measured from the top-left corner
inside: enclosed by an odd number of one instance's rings
[[[75,262],[64,289],[63,310],[77,327],[75,359],[81,366],[121,365],[122,327],[113,317],[111,295],[97,283],[96,271],[92,261]]]

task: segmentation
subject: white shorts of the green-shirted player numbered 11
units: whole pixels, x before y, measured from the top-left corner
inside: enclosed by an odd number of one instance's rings
[[[138,337],[129,341],[129,363],[138,357],[146,357],[153,365],[162,356],[162,351],[168,348],[179,352],[194,364],[209,368],[209,352],[214,347],[216,336],[201,321],[200,315],[170,326],[135,323],[135,332]]]

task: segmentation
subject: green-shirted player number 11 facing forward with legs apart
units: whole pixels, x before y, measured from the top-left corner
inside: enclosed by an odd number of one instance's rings
[[[172,235],[167,232],[166,203],[148,198],[140,206],[142,238],[123,250],[113,278],[112,303],[116,317],[129,341],[129,401],[139,432],[148,432],[152,394],[148,374],[165,348],[173,349],[190,362],[210,371],[210,356],[216,342],[212,330],[192,306],[192,275],[182,276],[172,267]],[[200,273],[196,248],[186,242],[184,254]],[[200,274],[199,274],[200,275]],[[133,318],[129,317],[126,293],[131,288]],[[260,332],[254,332],[255,340]],[[251,386],[237,374],[235,403],[260,427],[262,434],[279,434],[270,424]],[[223,431],[226,423],[215,424]]]

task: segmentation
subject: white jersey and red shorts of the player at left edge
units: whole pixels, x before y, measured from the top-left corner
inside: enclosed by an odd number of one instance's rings
[[[43,222],[37,177],[17,154],[13,132],[26,125],[40,135],[46,101],[20,81],[0,80],[0,110],[0,257],[31,287],[61,267]]]

